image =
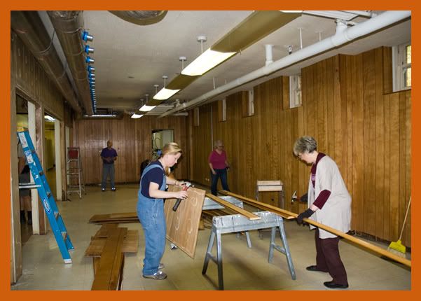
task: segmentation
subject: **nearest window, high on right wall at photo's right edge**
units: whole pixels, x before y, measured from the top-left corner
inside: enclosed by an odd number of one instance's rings
[[[411,83],[411,45],[404,43],[392,48],[393,52],[393,91],[410,89]]]

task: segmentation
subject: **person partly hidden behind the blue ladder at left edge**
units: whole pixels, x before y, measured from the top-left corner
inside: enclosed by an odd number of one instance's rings
[[[31,181],[30,169],[23,153],[22,145],[18,141],[18,172],[19,183],[29,183]],[[27,224],[32,225],[32,204],[31,204],[31,190],[20,189],[20,223],[25,222],[25,211],[27,213]]]

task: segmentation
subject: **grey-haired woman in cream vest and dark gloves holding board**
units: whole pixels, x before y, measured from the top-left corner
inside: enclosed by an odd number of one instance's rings
[[[294,144],[294,155],[306,164],[311,164],[308,184],[309,208],[298,215],[298,224],[310,218],[336,230],[348,232],[351,225],[351,196],[340,175],[338,165],[324,153],[317,151],[317,141],[303,136]],[[315,228],[310,225],[310,229]],[[306,267],[312,272],[329,272],[333,278],[324,282],[327,288],[347,288],[347,273],[340,260],[339,237],[316,228],[316,265]]]

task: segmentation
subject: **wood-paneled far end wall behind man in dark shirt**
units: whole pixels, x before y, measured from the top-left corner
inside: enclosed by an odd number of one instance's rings
[[[116,183],[139,181],[140,164],[152,157],[151,132],[158,129],[174,130],[174,142],[188,153],[186,117],[132,119],[124,116],[120,120],[76,120],[73,146],[81,148],[85,183],[101,183],[102,160],[99,155],[109,139],[118,153]],[[188,178],[188,154],[176,165],[175,176],[177,179]]]

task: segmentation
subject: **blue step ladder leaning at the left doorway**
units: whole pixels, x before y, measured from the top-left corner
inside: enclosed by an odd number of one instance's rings
[[[44,210],[46,211],[57,245],[60,248],[60,253],[62,253],[64,263],[71,263],[69,251],[74,251],[74,246],[71,244],[63,218],[55,204],[53,194],[51,193],[50,186],[48,186],[46,175],[43,172],[38,155],[36,155],[29,132],[18,132],[18,138],[36,184],[34,187],[38,190],[39,197],[42,200]]]

